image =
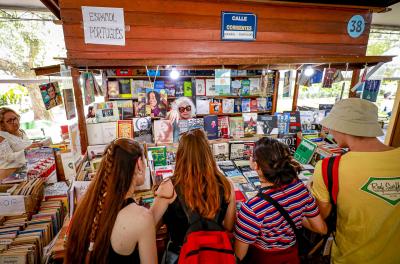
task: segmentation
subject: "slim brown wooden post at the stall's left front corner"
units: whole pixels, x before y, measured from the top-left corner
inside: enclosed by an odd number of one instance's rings
[[[82,155],[84,155],[87,150],[88,139],[87,139],[86,118],[85,118],[85,109],[83,105],[82,90],[79,83],[80,79],[79,70],[77,68],[72,68],[71,76],[72,76],[72,84],[74,86],[76,112],[78,115],[78,128],[79,128],[79,136],[81,138],[81,149],[82,149]]]

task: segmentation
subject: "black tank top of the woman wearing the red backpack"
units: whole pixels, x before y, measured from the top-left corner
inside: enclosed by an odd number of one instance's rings
[[[222,188],[220,193],[221,197],[223,197]],[[227,209],[228,203],[222,199],[221,212],[219,214],[219,219],[217,219],[217,223],[221,226]],[[189,229],[189,223],[178,197],[176,197],[175,201],[168,206],[167,211],[163,215],[163,222],[167,225],[169,237],[172,241],[169,250],[179,253],[180,247],[183,245],[183,240],[186,236],[186,231]]]

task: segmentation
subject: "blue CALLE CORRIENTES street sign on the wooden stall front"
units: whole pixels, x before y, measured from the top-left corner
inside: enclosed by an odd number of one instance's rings
[[[256,40],[257,16],[252,13],[222,12],[222,40]]]

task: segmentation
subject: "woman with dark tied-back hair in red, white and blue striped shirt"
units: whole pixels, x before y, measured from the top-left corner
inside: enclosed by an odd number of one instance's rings
[[[273,138],[256,142],[250,166],[261,182],[259,194],[245,202],[235,226],[235,253],[242,263],[300,263],[296,235],[282,214],[263,199],[271,197],[289,214],[297,228],[326,233],[314,197],[299,180],[301,166],[289,148]]]

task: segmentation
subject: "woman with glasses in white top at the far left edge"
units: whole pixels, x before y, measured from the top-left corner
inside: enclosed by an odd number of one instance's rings
[[[42,146],[28,139],[20,129],[20,116],[11,108],[0,108],[0,180],[7,178],[26,165],[25,150]]]

